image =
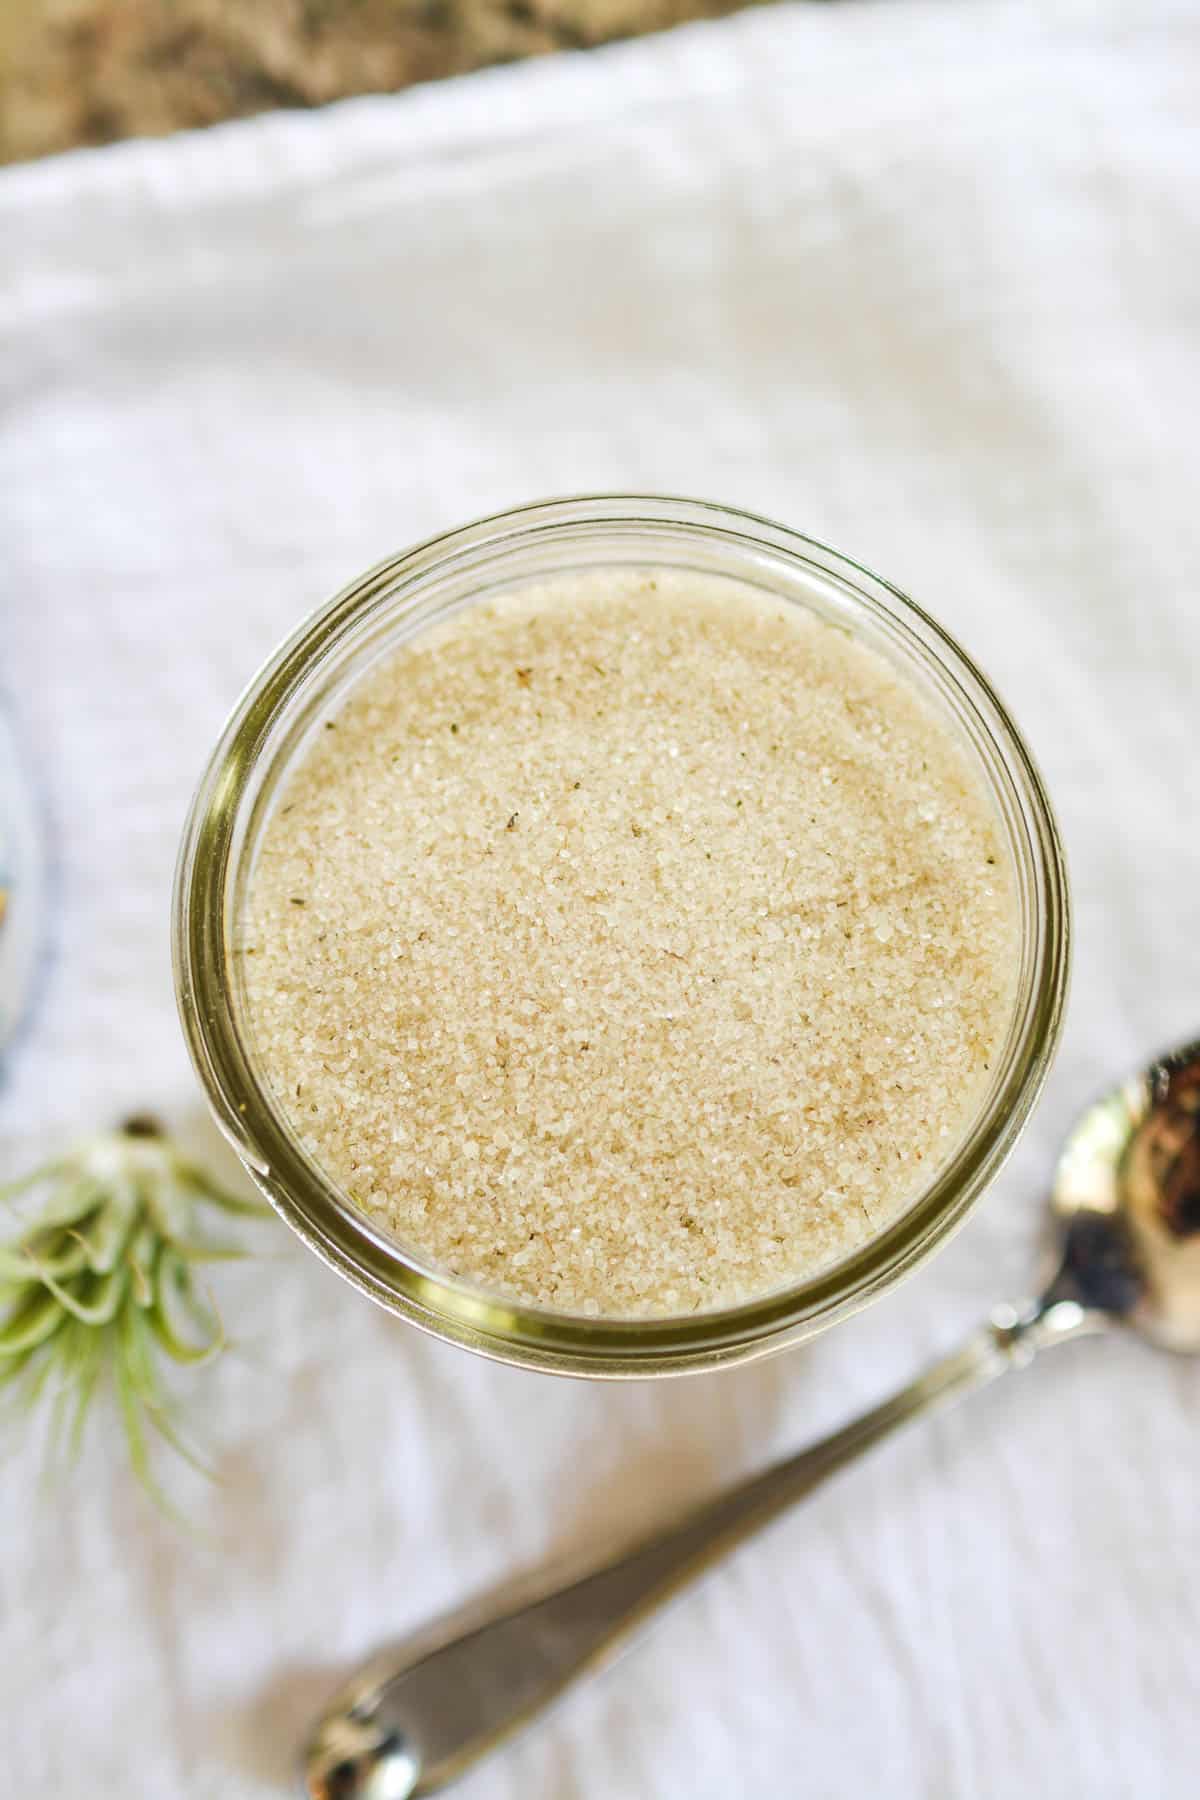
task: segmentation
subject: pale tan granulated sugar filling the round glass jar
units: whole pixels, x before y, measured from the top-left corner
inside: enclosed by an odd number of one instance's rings
[[[889,664],[752,589],[603,571],[417,637],[317,733],[246,1006],[308,1152],[419,1258],[673,1314],[927,1186],[1016,938],[990,805]]]

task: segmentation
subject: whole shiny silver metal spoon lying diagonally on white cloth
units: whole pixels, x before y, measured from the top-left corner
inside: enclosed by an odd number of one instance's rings
[[[997,1307],[891,1400],[567,1586],[543,1579],[533,1593],[493,1595],[374,1658],[308,1746],[311,1800],[408,1800],[453,1782],[826,1476],[1038,1350],[1128,1325],[1168,1350],[1200,1352],[1200,1042],[1083,1114],[1051,1213],[1056,1258],[1040,1300]]]

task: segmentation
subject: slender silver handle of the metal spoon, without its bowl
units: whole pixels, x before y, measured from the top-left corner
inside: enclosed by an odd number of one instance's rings
[[[1070,1301],[1000,1307],[891,1399],[613,1561],[491,1616],[475,1613],[468,1629],[423,1652],[401,1649],[390,1663],[385,1652],[326,1714],[308,1755],[309,1795],[405,1800],[446,1786],[581,1674],[608,1665],[694,1577],[828,1476],[910,1418],[1088,1328],[1094,1318]]]

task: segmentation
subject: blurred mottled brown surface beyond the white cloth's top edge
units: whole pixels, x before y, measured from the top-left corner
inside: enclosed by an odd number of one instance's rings
[[[738,0],[0,0],[0,160],[578,50]]]

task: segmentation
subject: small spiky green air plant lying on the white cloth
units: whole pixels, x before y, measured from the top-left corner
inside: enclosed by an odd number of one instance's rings
[[[151,1433],[203,1469],[175,1426],[166,1370],[225,1346],[198,1269],[245,1255],[212,1228],[266,1208],[218,1186],[149,1118],[88,1139],[0,1199],[29,1208],[0,1247],[0,1382],[31,1408],[43,1400],[50,1449],[74,1453],[112,1381],[133,1469],[162,1499]]]

